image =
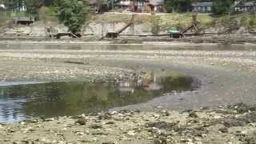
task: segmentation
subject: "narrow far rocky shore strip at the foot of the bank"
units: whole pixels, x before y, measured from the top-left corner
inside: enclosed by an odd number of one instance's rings
[[[125,36],[119,38],[104,38],[101,39],[96,36],[87,36],[82,38],[63,38],[50,39],[47,37],[31,37],[31,36],[2,36],[0,42],[78,42],[90,43],[100,42],[109,44],[142,44],[146,42],[187,42],[190,44],[256,44],[256,36],[254,34],[210,34],[207,36],[186,37],[186,38],[170,38],[168,36]]]

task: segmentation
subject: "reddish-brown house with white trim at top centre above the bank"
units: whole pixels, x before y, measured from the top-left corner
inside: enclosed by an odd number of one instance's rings
[[[137,13],[158,13],[163,11],[163,0],[120,0],[115,8]]]

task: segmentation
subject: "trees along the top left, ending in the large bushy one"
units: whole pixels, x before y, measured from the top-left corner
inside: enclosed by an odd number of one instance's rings
[[[26,14],[38,18],[42,6],[54,6],[60,22],[67,26],[70,32],[77,34],[86,22],[88,2],[86,0],[0,0],[6,10],[18,11],[26,6]]]

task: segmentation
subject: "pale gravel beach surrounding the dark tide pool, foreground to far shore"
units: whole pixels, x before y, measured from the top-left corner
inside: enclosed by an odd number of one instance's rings
[[[254,45],[1,42],[1,82],[95,82],[174,70],[202,85],[96,116],[1,123],[0,142],[253,143],[255,50]]]

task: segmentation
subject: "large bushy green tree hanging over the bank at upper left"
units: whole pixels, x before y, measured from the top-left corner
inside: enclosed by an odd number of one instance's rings
[[[82,25],[86,22],[87,6],[78,0],[58,0],[56,4],[60,22],[63,22],[74,34],[81,30]]]

